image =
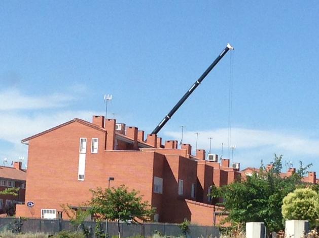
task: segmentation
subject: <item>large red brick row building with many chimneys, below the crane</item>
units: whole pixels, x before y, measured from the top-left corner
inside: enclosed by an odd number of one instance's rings
[[[89,189],[125,184],[140,191],[156,208],[154,220],[202,225],[219,221],[218,207],[207,196],[210,186],[240,179],[239,164],[205,160],[204,150],[178,148],[137,127],[93,116],[92,123],[74,119],[22,140],[28,148],[26,203],[16,216],[65,218],[61,204],[79,206],[91,198]],[[215,161],[215,162],[214,162]],[[108,181],[109,178],[114,181]],[[27,202],[33,206],[28,207]]]

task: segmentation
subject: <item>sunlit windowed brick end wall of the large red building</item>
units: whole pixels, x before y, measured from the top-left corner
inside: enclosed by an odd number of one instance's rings
[[[79,141],[87,138],[85,181],[78,181]],[[98,138],[98,154],[91,154]],[[152,200],[153,152],[104,151],[104,132],[74,122],[29,141],[26,201],[32,209],[17,216],[40,217],[41,209],[61,211],[61,203],[78,206],[90,199],[89,189],[125,184]],[[57,173],[58,172],[58,173]],[[25,205],[26,206],[26,205]],[[25,210],[25,211],[23,211]]]

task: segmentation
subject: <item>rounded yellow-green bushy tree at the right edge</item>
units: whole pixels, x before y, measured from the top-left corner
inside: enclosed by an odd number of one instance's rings
[[[299,188],[283,198],[283,218],[286,220],[308,220],[315,226],[319,217],[319,196],[310,188]]]

